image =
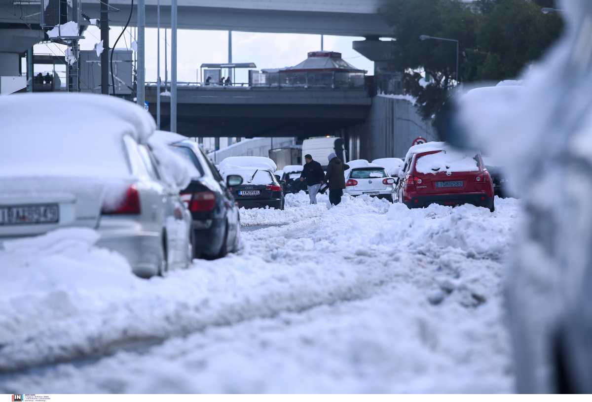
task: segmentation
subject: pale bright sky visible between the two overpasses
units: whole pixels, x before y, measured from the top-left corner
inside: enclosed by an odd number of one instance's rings
[[[130,48],[130,31],[128,28],[117,44],[117,48]],[[121,33],[121,27],[111,27],[110,44]],[[91,26],[81,40],[81,50],[92,50],[101,37],[98,27]],[[146,81],[156,81],[156,28],[146,28]],[[227,63],[228,61],[228,32],[227,31],[199,31],[178,30],[177,46],[177,79],[179,82],[197,82],[200,65],[202,63]],[[170,30],[168,30],[168,66],[170,80]],[[357,37],[324,37],[324,50],[338,51],[343,59],[359,69],[374,73],[374,63],[352,49],[352,41],[363,40]],[[57,44],[38,44],[35,53],[63,55],[63,46]],[[233,62],[253,62],[257,70],[294,66],[307,57],[308,51],[320,50],[320,35],[310,34],[272,34],[233,32],[232,34]],[[165,30],[160,30],[160,77],[165,79]],[[36,71],[45,72],[51,66],[38,66]],[[224,74],[224,72],[223,72]],[[235,82],[246,82],[246,71],[237,70]]]

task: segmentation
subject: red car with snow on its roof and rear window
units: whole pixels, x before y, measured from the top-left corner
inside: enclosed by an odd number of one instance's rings
[[[442,142],[416,145],[399,177],[397,199],[409,208],[468,203],[495,210],[493,182],[479,154],[462,154]]]

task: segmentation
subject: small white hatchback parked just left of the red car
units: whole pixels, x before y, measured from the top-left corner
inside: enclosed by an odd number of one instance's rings
[[[392,202],[395,193],[395,179],[384,167],[369,163],[365,159],[348,162],[345,174],[345,193],[351,196],[369,195],[385,198]]]

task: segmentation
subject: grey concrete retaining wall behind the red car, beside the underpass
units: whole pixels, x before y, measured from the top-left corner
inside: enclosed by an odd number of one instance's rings
[[[402,158],[417,137],[437,140],[432,124],[422,119],[413,103],[400,98],[404,97],[375,96],[366,122],[340,133],[349,140],[350,160]]]

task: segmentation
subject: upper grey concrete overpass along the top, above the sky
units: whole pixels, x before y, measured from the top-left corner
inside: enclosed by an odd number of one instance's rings
[[[388,0],[178,0],[178,28],[268,33],[390,37],[380,7]],[[118,12],[111,25],[125,25],[130,0],[110,0]],[[146,0],[146,26],[156,27],[157,0]],[[86,14],[99,18],[100,1],[82,0]],[[130,24],[136,24],[134,10]],[[160,24],[170,27],[170,1],[160,1]]]

